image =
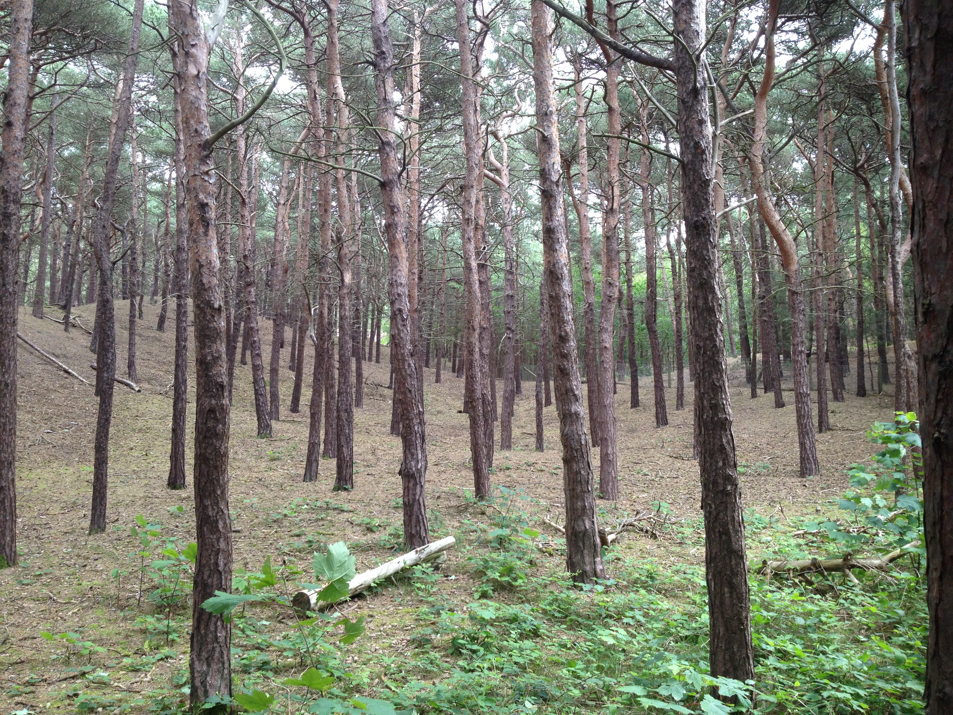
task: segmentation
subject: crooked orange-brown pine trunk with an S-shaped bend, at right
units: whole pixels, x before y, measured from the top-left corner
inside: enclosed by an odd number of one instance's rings
[[[748,153],[748,163],[758,194],[758,208],[764,222],[781,252],[784,266],[784,278],[787,283],[787,299],[791,309],[791,356],[794,371],[794,402],[798,421],[798,448],[800,453],[801,477],[819,474],[817,446],[814,439],[814,425],[811,423],[811,385],[807,368],[807,349],[804,345],[804,296],[801,290],[801,269],[798,265],[798,250],[794,239],[781,221],[771,194],[768,191],[768,177],[761,165],[764,142],[767,136],[767,98],[774,81],[775,49],[774,26],[778,15],[778,0],[770,0],[767,18],[767,49],[765,51],[764,75],[758,94],[755,96],[755,138]],[[765,335],[761,333],[762,343]],[[763,353],[762,349],[762,353]],[[777,351],[775,351],[777,353]]]

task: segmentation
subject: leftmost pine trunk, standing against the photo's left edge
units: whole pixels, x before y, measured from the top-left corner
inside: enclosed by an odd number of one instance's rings
[[[8,81],[3,97],[0,156],[0,565],[16,554],[16,324],[20,199],[29,123],[32,0],[12,0],[8,22]],[[78,198],[77,198],[78,200]],[[70,286],[70,290],[72,287]],[[69,317],[66,324],[70,324]]]

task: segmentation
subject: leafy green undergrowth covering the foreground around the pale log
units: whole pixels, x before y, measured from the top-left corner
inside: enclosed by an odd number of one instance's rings
[[[919,475],[916,455],[904,446],[917,440],[915,417],[904,419],[875,426],[871,439],[884,450],[870,465],[851,468],[852,490],[820,519],[746,513],[754,563],[840,556],[847,546],[858,556],[898,545],[910,553],[888,573],[856,572],[857,582],[752,572],[754,682],[708,672],[704,570],[688,558],[703,550],[700,521],[666,527],[655,551],[665,552],[663,559],[621,558],[617,547],[607,549],[612,579],[579,588],[559,569],[564,542],[537,530],[536,505],[501,489],[489,503],[464,501],[456,568],[417,566],[378,587],[399,593],[399,615],[374,613],[367,633],[363,619],[294,618],[289,595],[312,577],[292,551],[260,572],[239,569],[240,593],[212,604],[233,620],[234,704],[289,715],[921,712],[927,618],[916,543]],[[304,507],[294,502],[274,519],[293,518]],[[369,522],[369,538],[386,528]],[[139,568],[113,572],[141,583],[141,603],[120,603],[117,589],[116,607],[143,611],[142,649],[115,658],[84,634],[44,635],[75,673],[59,703],[86,711],[183,711],[193,550],[163,534],[140,520],[132,531]],[[647,537],[622,537],[636,538]],[[353,574],[353,558],[343,544],[315,548],[324,554],[315,558],[315,576],[330,598]],[[155,556],[162,558],[153,562]],[[139,694],[112,686],[118,673],[150,672],[159,662],[171,664],[167,683]]]

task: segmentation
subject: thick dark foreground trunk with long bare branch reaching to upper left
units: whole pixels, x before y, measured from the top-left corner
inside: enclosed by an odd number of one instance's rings
[[[694,53],[705,39],[704,4],[674,3],[679,153],[685,216],[688,310],[694,343],[699,468],[705,518],[705,580],[711,673],[742,683],[755,677],[744,521],[718,280],[712,132],[705,75]]]

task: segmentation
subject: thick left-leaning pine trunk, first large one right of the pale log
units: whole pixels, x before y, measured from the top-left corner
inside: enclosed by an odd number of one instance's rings
[[[536,88],[537,153],[542,213],[543,282],[549,302],[556,371],[556,404],[562,442],[566,501],[566,570],[577,582],[605,578],[596,522],[596,494],[586,417],[582,409],[576,327],[573,324],[569,240],[559,162],[558,113],[553,86],[550,10],[534,0],[533,82]]]

